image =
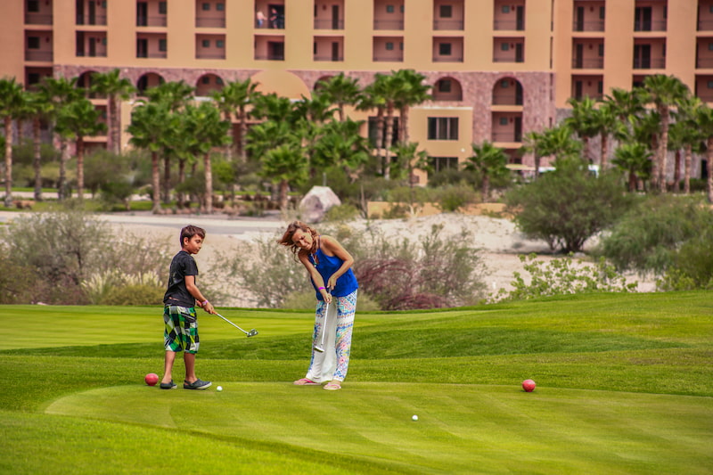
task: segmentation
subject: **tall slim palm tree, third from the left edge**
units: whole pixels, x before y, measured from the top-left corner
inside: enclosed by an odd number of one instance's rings
[[[70,102],[78,101],[84,97],[82,91],[77,87],[77,78],[44,78],[40,84],[39,94],[42,100],[49,104],[48,114],[52,119],[53,128],[57,123],[57,116],[61,109]],[[56,130],[55,130],[56,133]],[[57,197],[59,201],[66,198],[66,167],[70,160],[70,149],[67,139],[57,134],[60,142],[60,177],[57,184]]]

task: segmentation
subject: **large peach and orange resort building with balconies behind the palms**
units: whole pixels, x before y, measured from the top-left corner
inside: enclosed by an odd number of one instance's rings
[[[523,135],[566,117],[570,97],[647,75],[713,102],[713,0],[5,0],[2,12],[0,77],[26,87],[45,76],[88,86],[119,68],[139,91],[183,79],[206,96],[252,78],[299,99],[342,71],[366,86],[415,70],[433,98],[412,109],[408,133],[436,169],[485,140],[531,166]],[[368,135],[373,113],[349,115]]]

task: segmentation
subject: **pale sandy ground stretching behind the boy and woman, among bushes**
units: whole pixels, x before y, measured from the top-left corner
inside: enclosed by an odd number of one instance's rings
[[[16,217],[13,213],[0,213],[0,221]],[[148,213],[132,215],[102,215],[117,230],[136,235],[151,235],[156,242],[166,242],[170,250],[179,250],[178,232],[183,225],[201,225],[208,232],[206,243],[196,256],[201,274],[225,274],[225,265],[220,255],[233,252],[250,258],[250,245],[257,240],[276,238],[282,234],[287,220],[272,216],[264,218],[227,218],[221,215],[206,216],[153,216]],[[527,278],[519,255],[537,253],[538,258],[548,261],[553,256],[544,241],[533,241],[523,236],[512,220],[500,217],[472,216],[458,213],[444,213],[427,217],[409,219],[356,220],[348,224],[356,232],[364,231],[367,226],[382,232],[385,236],[419,240],[426,233],[432,232],[433,225],[442,225],[441,235],[447,237],[468,231],[472,236],[472,245],[480,249],[480,256],[486,266],[485,283],[488,292],[496,293],[499,289],[512,289],[513,273],[520,272]],[[319,229],[320,225],[316,225]],[[586,242],[594,245],[593,242]],[[282,251],[275,245],[275,251]],[[561,257],[561,256],[559,256]],[[584,263],[587,264],[587,263]],[[591,264],[591,263],[589,263]],[[168,263],[167,263],[168,266]],[[218,281],[210,280],[211,284]],[[654,291],[655,285],[643,281],[635,274],[627,274],[627,282],[638,282],[638,291]],[[241,291],[231,289],[227,293],[240,295]],[[226,307],[250,307],[248,300],[237,297],[221,302]]]

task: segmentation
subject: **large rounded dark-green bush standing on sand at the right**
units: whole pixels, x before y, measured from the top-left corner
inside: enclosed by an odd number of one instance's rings
[[[522,233],[570,253],[613,225],[631,199],[622,190],[619,174],[593,176],[577,159],[558,160],[554,171],[514,188],[505,201]]]

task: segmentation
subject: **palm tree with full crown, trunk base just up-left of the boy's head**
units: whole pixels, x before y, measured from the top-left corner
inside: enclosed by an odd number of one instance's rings
[[[166,127],[171,124],[168,104],[161,102],[143,102],[131,112],[131,123],[127,132],[131,134],[129,143],[137,148],[151,152],[152,169],[152,212],[159,213],[160,174],[159,152],[166,139]]]

